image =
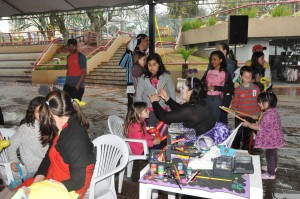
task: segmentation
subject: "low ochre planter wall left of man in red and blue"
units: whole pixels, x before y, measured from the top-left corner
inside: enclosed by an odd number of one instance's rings
[[[32,71],[32,83],[56,84],[58,77],[65,77],[67,70],[34,70]]]

